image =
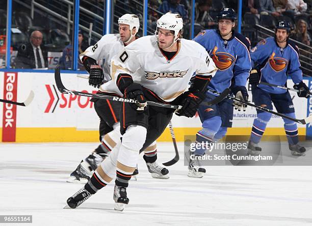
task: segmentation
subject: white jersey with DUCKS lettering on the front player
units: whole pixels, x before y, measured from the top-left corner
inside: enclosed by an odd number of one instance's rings
[[[116,80],[120,73],[127,73],[135,83],[170,102],[187,89],[194,73],[214,76],[216,71],[217,67],[205,48],[194,41],[181,39],[177,53],[169,61],[160,51],[156,37],[145,36],[125,46],[113,57],[112,81],[102,85],[100,90],[122,95]]]

